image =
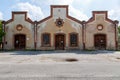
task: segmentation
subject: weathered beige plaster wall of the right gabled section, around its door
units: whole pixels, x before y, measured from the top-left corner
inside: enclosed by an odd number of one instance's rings
[[[99,31],[97,25],[102,24],[103,30]],[[96,18],[93,22],[86,24],[86,49],[94,48],[94,35],[106,34],[107,37],[107,49],[115,49],[115,28],[114,25],[105,20],[105,14],[96,14]]]

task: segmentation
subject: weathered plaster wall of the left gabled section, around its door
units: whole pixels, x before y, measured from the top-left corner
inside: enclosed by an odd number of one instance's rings
[[[15,34],[25,34],[26,35],[26,48],[34,48],[34,27],[33,24],[25,21],[24,14],[14,15],[14,21],[5,25],[6,35],[5,49],[14,49],[14,35]],[[21,24],[23,26],[22,31],[17,31],[16,26]],[[28,40],[29,39],[29,40]]]

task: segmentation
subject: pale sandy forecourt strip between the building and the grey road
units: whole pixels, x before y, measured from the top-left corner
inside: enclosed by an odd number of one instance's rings
[[[63,62],[120,62],[119,51],[11,51],[0,52],[0,64]]]

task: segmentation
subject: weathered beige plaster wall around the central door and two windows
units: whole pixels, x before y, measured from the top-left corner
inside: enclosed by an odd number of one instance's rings
[[[37,48],[40,49],[41,48],[41,34],[42,33],[50,33],[51,34],[51,48],[54,49],[55,48],[55,44],[54,44],[54,37],[55,34],[57,33],[64,33],[65,34],[65,39],[66,39],[66,49],[69,49],[69,33],[75,32],[78,33],[78,49],[82,49],[82,25],[80,23],[77,23],[71,19],[66,18],[64,20],[64,24],[61,28],[59,28],[58,26],[56,26],[55,22],[54,22],[54,18],[51,18],[41,24],[38,24],[38,32],[37,32],[37,38],[38,38],[38,43],[37,43]],[[50,48],[49,48],[50,49]],[[72,48],[71,48],[72,49]]]

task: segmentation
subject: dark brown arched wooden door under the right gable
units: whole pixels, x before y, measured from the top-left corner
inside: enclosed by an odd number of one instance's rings
[[[94,35],[94,46],[96,49],[106,49],[106,35],[105,34]]]

